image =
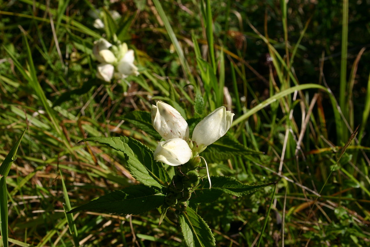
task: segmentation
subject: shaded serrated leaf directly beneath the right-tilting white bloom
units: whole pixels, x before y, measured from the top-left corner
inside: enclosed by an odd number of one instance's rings
[[[247,157],[249,154],[262,153],[243,146],[231,134],[226,134],[209,145],[201,155],[208,162],[213,162],[226,160],[235,156]]]

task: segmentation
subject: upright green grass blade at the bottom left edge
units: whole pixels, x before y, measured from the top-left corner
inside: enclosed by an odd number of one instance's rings
[[[8,247],[8,196],[5,176],[0,175],[0,232],[4,247]]]

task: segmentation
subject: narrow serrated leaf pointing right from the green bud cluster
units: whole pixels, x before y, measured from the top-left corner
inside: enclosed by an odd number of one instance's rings
[[[209,189],[209,182],[208,180],[203,180],[203,183],[198,190],[212,190],[212,189],[219,189],[224,193],[231,194],[233,196],[245,196],[251,194],[257,190],[260,190],[263,187],[269,186],[271,184],[275,184],[276,182],[268,183],[268,184],[258,184],[258,185],[248,185],[243,184],[242,182],[226,176],[211,176],[211,183],[212,188]],[[196,190],[196,191],[198,191]]]

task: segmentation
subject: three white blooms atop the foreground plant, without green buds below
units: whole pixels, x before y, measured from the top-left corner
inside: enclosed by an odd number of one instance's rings
[[[152,105],[152,124],[165,141],[158,143],[154,159],[170,166],[185,164],[226,134],[233,116],[224,106],[217,108],[195,126],[190,140],[188,123],[181,114],[158,101],[156,106]]]

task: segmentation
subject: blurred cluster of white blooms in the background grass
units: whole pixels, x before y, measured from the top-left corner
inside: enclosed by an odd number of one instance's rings
[[[138,68],[134,65],[134,51],[128,50],[127,44],[112,45],[105,39],[94,42],[92,53],[100,62],[97,68],[97,77],[110,82],[116,79],[125,79],[127,76],[138,76]]]

